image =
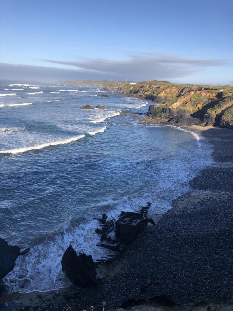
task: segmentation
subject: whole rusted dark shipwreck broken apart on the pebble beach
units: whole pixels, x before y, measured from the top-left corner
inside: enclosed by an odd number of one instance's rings
[[[148,223],[155,225],[153,219],[148,217],[151,204],[147,202],[146,206],[141,206],[139,212],[122,211],[118,219],[108,217],[106,214],[101,218],[94,218],[99,221],[99,227],[95,232],[100,237],[100,241],[96,245],[114,253],[109,253],[94,262],[91,255],[80,253],[78,256],[70,245],[62,257],[62,270],[70,281],[80,287],[97,285],[96,267],[101,263],[117,259],[137,239]]]

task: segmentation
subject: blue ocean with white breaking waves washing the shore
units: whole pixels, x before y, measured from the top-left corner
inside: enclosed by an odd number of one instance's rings
[[[94,259],[109,253],[96,246],[94,217],[116,218],[148,201],[161,214],[213,161],[192,132],[117,117],[155,103],[100,87],[1,83],[0,236],[30,246],[3,280],[9,293],[68,286],[61,259],[70,244]]]

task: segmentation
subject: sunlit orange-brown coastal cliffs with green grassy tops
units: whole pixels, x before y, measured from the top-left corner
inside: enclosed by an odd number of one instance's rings
[[[233,87],[192,86],[169,82],[139,82],[123,85],[123,95],[160,102],[150,105],[149,121],[176,125],[204,125],[233,128]]]

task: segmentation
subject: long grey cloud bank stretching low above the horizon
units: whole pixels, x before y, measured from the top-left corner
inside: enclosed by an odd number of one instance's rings
[[[168,55],[132,55],[128,60],[86,59],[78,62],[44,59],[64,68],[0,64],[0,78],[19,81],[113,80],[132,81],[172,80],[195,75],[207,67],[222,66],[227,61],[189,59]],[[67,68],[73,66],[73,69]]]

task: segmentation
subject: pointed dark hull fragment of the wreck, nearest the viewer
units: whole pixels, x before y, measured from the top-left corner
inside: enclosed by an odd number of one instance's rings
[[[70,245],[62,257],[62,270],[69,280],[80,287],[92,287],[97,285],[96,265],[92,256],[80,253],[79,256]]]

